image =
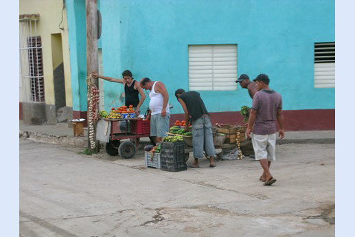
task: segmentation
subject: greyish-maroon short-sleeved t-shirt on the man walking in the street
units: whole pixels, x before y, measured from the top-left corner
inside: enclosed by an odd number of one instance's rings
[[[277,132],[277,109],[282,109],[282,98],[276,91],[262,89],[253,98],[251,109],[257,110],[253,133],[268,135]]]

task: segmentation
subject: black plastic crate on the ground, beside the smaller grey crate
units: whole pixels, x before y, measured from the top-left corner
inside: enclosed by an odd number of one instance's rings
[[[185,146],[185,142],[161,142],[161,170],[187,170]]]

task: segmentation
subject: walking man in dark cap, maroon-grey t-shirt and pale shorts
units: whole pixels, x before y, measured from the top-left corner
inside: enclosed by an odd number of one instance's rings
[[[276,121],[279,123],[280,139],[285,135],[282,98],[268,87],[270,79],[266,74],[260,74],[253,81],[256,82],[257,93],[253,97],[246,133],[253,142],[255,159],[260,161],[264,170],[260,181],[263,181],[264,185],[271,185],[276,182],[270,172],[271,162],[275,161]]]

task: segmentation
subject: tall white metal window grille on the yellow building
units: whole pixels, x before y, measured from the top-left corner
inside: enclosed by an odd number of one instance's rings
[[[25,102],[45,102],[41,36],[38,19],[20,21],[20,76]]]

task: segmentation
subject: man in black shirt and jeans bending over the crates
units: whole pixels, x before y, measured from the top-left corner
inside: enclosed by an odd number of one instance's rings
[[[203,158],[204,148],[209,157],[209,167],[216,167],[216,163],[214,163],[216,150],[214,149],[212,124],[205,103],[200,97],[200,93],[196,91],[185,92],[184,89],[177,89],[175,91],[175,97],[181,106],[183,106],[186,124],[188,124],[187,121],[190,121],[190,115],[192,120],[194,163],[188,167],[200,168],[198,166],[198,159]],[[189,131],[189,126],[185,126],[185,131]]]

